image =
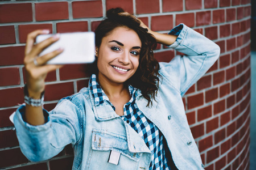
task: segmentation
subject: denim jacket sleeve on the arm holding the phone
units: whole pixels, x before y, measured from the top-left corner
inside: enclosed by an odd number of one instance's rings
[[[14,115],[14,126],[20,150],[32,162],[47,160],[59,154],[63,148],[75,145],[81,136],[81,109],[68,99],[62,99],[51,112],[44,110],[46,124],[32,126],[24,121],[25,106]]]

